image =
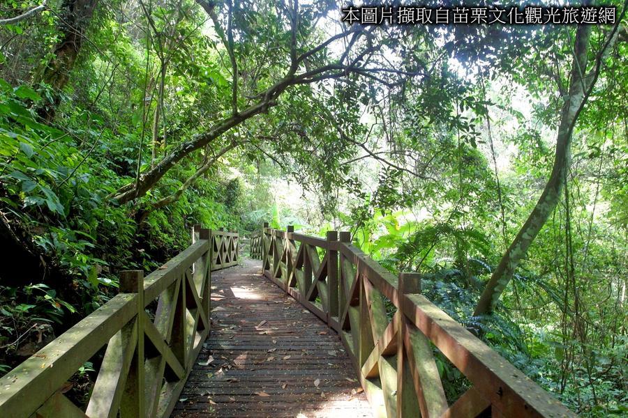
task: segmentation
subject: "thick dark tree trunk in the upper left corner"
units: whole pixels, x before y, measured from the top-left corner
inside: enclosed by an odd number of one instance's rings
[[[63,15],[59,22],[61,37],[54,47],[52,59],[40,73],[38,82],[49,84],[54,91],[60,91],[68,84],[70,71],[74,68],[77,56],[80,52],[84,33],[91,22],[94,8],[98,0],[64,0]],[[54,95],[54,100],[40,113],[47,121],[54,118],[59,105],[59,94]]]

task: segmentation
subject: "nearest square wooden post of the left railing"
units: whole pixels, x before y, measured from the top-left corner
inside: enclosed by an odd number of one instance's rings
[[[120,293],[137,294],[137,343],[131,361],[124,395],[120,403],[120,417],[144,417],[144,272],[124,270],[120,272]]]

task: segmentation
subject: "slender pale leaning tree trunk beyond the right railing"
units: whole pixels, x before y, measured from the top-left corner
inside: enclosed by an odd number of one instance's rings
[[[488,314],[493,311],[504,289],[509,283],[518,263],[525,257],[528,247],[537,237],[549,215],[555,209],[560,199],[562,187],[565,185],[567,169],[571,162],[571,135],[578,114],[585,102],[585,85],[590,84],[588,77],[584,76],[587,68],[587,54],[591,26],[578,26],[574,45],[574,61],[571,64],[571,77],[569,84],[569,97],[565,100],[560,114],[560,125],[556,139],[556,154],[554,167],[550,178],[530,216],[519,230],[510,247],[506,250],[502,259],[488,280],[486,288],[473,313],[474,316]]]

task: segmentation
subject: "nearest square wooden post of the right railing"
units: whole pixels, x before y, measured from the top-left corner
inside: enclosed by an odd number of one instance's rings
[[[419,273],[399,273],[399,308],[397,315],[397,417],[417,415],[419,402],[414,392],[412,372],[408,364],[408,355],[403,348],[405,339],[405,316],[403,315],[403,298],[408,293],[421,293],[421,275]],[[421,411],[422,412],[422,411]]]

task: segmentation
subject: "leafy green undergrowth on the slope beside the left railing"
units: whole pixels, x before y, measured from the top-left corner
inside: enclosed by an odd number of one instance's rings
[[[133,181],[134,134],[124,126],[114,132],[80,109],[63,127],[47,125],[37,114],[41,93],[0,80],[0,206],[46,265],[41,277],[2,273],[0,374],[107,302],[117,293],[117,272],[150,272],[186,248],[193,224],[242,226],[241,180],[220,175],[138,224],[142,203],[120,207],[107,199]],[[167,178],[163,192],[190,170]],[[59,274],[47,277],[52,270]]]

